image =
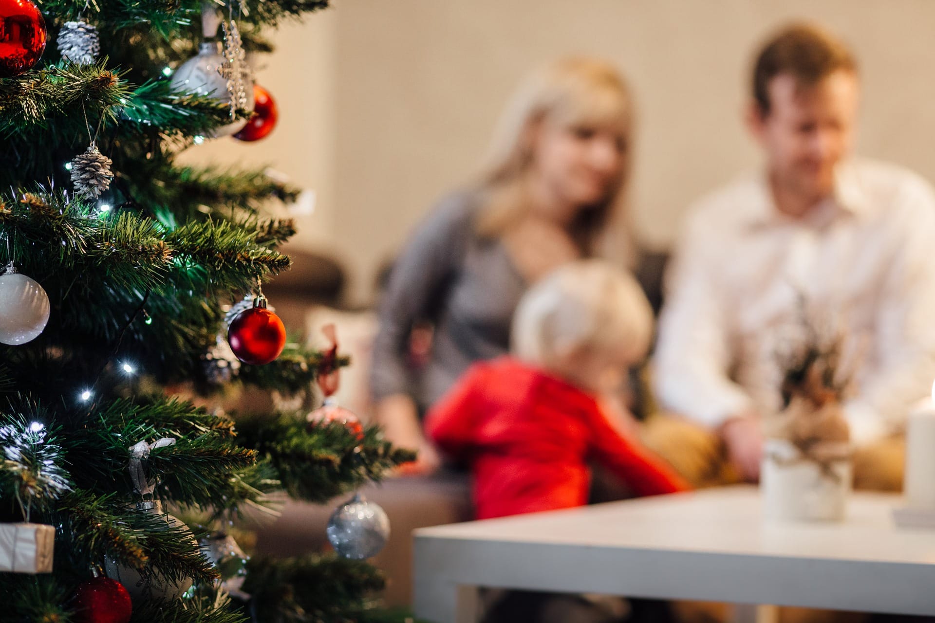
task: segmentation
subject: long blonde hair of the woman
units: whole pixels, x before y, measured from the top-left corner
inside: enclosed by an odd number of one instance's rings
[[[543,120],[565,127],[610,123],[628,146],[632,104],[626,82],[610,63],[568,58],[541,67],[520,85],[500,118],[488,151],[481,178],[487,202],[478,219],[479,234],[503,234],[528,209],[526,180],[533,159],[529,131]],[[629,161],[625,155],[620,175],[604,201],[587,206],[569,227],[569,234],[586,257],[619,255],[632,259],[624,197]],[[622,232],[616,240],[606,239],[614,228]]]

